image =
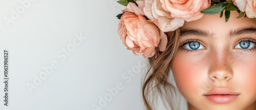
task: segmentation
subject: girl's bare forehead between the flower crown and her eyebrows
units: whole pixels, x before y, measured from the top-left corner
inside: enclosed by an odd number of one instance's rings
[[[255,19],[247,17],[236,18],[237,16],[237,11],[231,11],[228,21],[225,22],[225,15],[220,18],[220,13],[212,15],[204,14],[204,16],[198,20],[185,23],[181,29],[200,29],[210,33],[226,33],[239,28],[256,28]]]

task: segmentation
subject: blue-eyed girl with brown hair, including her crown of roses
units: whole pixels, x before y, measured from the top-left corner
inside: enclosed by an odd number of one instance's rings
[[[146,109],[156,109],[158,97],[180,109],[170,74],[189,110],[256,109],[255,0],[119,3],[127,5],[118,15],[121,41],[150,61]]]

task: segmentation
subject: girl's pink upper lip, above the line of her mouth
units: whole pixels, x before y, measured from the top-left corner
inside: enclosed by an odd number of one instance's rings
[[[212,89],[204,95],[208,96],[208,95],[239,95],[239,94],[229,89]]]

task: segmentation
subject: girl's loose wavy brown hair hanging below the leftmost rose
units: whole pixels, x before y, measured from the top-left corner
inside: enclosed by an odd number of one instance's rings
[[[162,99],[166,108],[174,109],[175,102],[172,101],[172,96],[176,92],[174,85],[168,78],[168,73],[173,57],[179,48],[180,29],[165,34],[168,39],[166,50],[157,59],[148,58],[150,68],[142,84],[142,96],[147,110],[155,109],[154,104],[157,103],[158,97]]]

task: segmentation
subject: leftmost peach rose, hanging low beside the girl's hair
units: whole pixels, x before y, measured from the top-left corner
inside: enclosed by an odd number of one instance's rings
[[[156,48],[164,51],[167,45],[167,36],[164,32],[159,31],[151,20],[147,20],[143,11],[134,3],[129,3],[121,16],[118,34],[128,50],[145,58],[153,57]]]

